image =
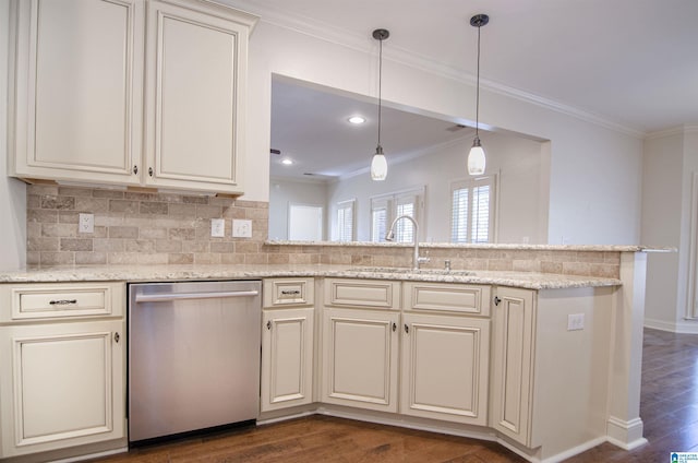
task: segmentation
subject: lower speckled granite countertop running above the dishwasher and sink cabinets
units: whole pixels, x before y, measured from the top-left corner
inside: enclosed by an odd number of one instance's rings
[[[0,272],[0,283],[166,282],[185,280],[252,280],[267,277],[346,277],[435,283],[470,283],[528,289],[621,286],[617,278],[534,272],[359,268],[348,265],[109,265],[56,266]]]

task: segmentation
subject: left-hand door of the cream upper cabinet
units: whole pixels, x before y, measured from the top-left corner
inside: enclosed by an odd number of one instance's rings
[[[139,183],[143,2],[31,0],[13,9],[10,174]]]

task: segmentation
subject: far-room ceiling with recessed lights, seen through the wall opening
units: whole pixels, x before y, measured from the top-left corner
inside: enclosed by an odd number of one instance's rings
[[[309,109],[312,108],[312,109]],[[365,122],[349,123],[351,116]],[[326,181],[366,173],[377,145],[377,105],[288,79],[272,82],[272,177]],[[435,146],[472,142],[474,130],[454,122],[382,107],[381,144],[389,163]],[[281,162],[289,159],[292,165]]]

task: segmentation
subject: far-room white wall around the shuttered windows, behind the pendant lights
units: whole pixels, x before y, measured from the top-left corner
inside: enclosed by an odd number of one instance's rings
[[[539,210],[547,209],[540,199],[541,143],[507,134],[481,132],[488,153],[485,175],[500,174],[498,242],[546,242],[545,224]],[[371,198],[406,189],[425,187],[425,216],[420,223],[422,240],[450,241],[450,183],[468,177],[466,158],[471,138],[436,147],[419,157],[392,162],[387,151],[388,176],[375,182],[368,171],[329,185],[330,214],[340,201],[357,200],[357,239],[371,240]],[[366,159],[370,161],[370,159]]]

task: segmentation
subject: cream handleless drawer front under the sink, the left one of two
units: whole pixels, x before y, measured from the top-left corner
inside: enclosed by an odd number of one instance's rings
[[[400,283],[328,278],[325,286],[325,305],[399,309]]]

